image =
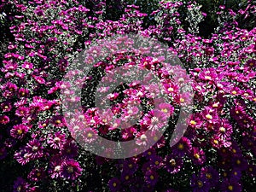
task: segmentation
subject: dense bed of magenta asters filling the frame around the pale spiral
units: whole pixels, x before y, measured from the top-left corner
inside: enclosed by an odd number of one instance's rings
[[[248,1],[238,11],[219,6],[214,13],[218,27],[210,37],[201,37],[199,25],[208,13],[196,2],[162,1],[147,15],[139,6],[120,1],[116,9],[121,14],[111,20],[108,1],[3,1],[1,22],[9,21],[13,39],[1,49],[2,191],[252,191],[256,28],[241,28],[239,22],[255,15],[254,3]],[[12,13],[5,13],[9,8]],[[145,18],[151,20],[148,26]],[[189,73],[193,114],[174,146],[169,143],[179,109],[189,101],[178,90],[188,79],[177,75],[178,68],[161,66],[160,57],[119,53],[97,62],[93,78],[83,79],[90,84],[82,98],[84,118],[78,112],[73,129],[67,129],[61,91],[69,86],[63,82],[69,65],[96,40],[131,32],[168,44]],[[93,62],[93,57],[87,61]],[[153,70],[168,101],[154,109],[148,91],[154,92],[155,84],[133,82],[108,97],[112,106],[101,118],[91,90],[103,73],[125,65]],[[65,93],[71,102],[81,99]],[[137,103],[143,103],[137,124],[119,130],[118,122],[106,123],[114,115],[125,119],[137,114]],[[154,146],[131,158],[97,156],[77,143],[94,143],[100,135],[122,142],[134,139],[139,148],[147,144],[145,131],[154,134],[164,123],[165,134],[154,137]],[[107,156],[112,153],[111,148],[103,149]]]

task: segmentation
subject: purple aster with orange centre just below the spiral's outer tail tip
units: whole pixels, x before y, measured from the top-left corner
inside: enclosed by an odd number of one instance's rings
[[[172,153],[177,156],[184,156],[191,150],[191,143],[187,137],[182,137],[180,141],[172,147]]]

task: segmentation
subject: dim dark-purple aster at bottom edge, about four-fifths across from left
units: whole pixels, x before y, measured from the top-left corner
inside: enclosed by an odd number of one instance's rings
[[[210,183],[204,176],[195,176],[195,174],[193,174],[190,185],[193,192],[208,192],[210,190]]]

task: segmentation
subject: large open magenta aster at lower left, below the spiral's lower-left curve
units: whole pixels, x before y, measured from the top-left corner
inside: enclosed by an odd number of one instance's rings
[[[61,177],[75,180],[82,174],[83,169],[76,160],[64,160],[61,163]]]

